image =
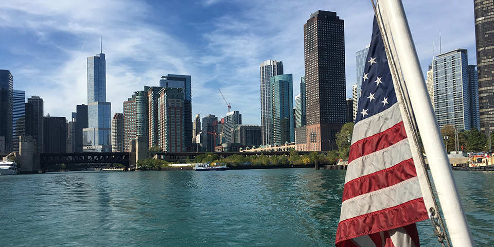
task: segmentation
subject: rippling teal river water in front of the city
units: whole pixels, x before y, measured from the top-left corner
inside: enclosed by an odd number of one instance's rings
[[[494,246],[494,172],[453,172]],[[345,171],[60,172],[0,177],[0,246],[334,246]],[[440,246],[427,221],[422,246]]]

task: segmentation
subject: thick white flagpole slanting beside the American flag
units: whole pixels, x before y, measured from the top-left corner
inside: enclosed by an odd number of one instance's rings
[[[382,17],[390,51],[395,63],[401,67],[406,87],[413,89],[408,95],[415,112],[417,127],[427,153],[437,196],[442,205],[443,216],[448,226],[453,246],[474,246],[470,227],[463,211],[463,205],[454,183],[451,164],[443,138],[439,132],[432,104],[427,92],[424,75],[420,68],[412,35],[400,0],[379,0],[377,11]]]

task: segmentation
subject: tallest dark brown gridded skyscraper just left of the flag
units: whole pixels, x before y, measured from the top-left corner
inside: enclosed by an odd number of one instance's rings
[[[344,21],[316,11],[304,24],[308,151],[329,151],[346,121]]]

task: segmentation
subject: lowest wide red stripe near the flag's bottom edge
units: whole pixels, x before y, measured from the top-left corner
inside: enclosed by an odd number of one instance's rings
[[[410,212],[414,212],[410,214]],[[424,198],[417,198],[400,205],[341,221],[336,232],[339,242],[364,235],[378,233],[428,219]]]

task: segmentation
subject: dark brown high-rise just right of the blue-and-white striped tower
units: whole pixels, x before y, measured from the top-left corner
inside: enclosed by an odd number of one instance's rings
[[[44,121],[43,121],[43,99],[39,96],[31,96],[31,98],[27,98],[27,102],[29,105],[32,105],[32,114],[29,114],[29,122],[32,127],[30,130],[31,133],[27,133],[26,135],[31,135],[34,140],[36,140],[36,149],[38,153],[43,153],[43,137],[44,137]],[[27,107],[26,109],[31,109],[31,107]],[[27,117],[27,115],[26,115]]]

